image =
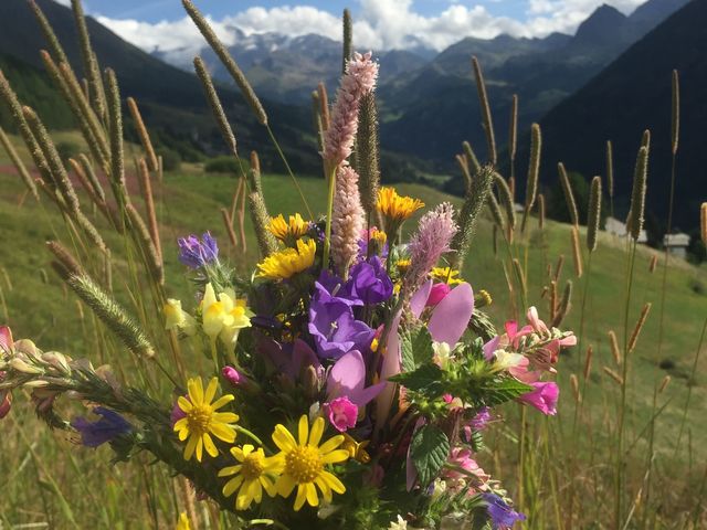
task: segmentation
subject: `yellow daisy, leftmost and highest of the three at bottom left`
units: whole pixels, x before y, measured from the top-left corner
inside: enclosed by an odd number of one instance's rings
[[[186,416],[175,423],[175,431],[180,442],[189,438],[184,447],[184,460],[191,459],[196,453],[197,460],[201,462],[204,447],[210,456],[218,456],[219,449],[211,435],[229,444],[235,439],[235,430],[231,424],[239,421],[238,414],[215,412],[234,398],[233,394],[225,394],[212,403],[218,386],[219,380],[213,378],[204,392],[201,378],[193,378],[187,382],[189,399],[180,395],[177,400],[177,405]]]

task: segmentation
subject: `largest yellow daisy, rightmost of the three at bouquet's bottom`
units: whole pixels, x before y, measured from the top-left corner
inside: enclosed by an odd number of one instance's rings
[[[297,486],[295,511],[299,511],[305,501],[309,506],[319,505],[317,487],[327,502],[331,502],[333,491],[346,491],[341,480],[324,468],[327,464],[348,459],[349,452],[338,448],[345,438],[339,434],[319,445],[324,427],[324,418],[317,417],[309,431],[309,421],[304,414],[299,418],[297,443],[284,425],[275,426],[273,442],[281,451],[276,457],[282,459],[283,465],[283,474],[276,484],[277,492],[283,497],[289,497]]]

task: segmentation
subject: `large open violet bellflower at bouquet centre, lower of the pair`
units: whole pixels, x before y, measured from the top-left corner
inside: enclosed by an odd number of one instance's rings
[[[318,282],[309,305],[309,333],[323,359],[339,359],[351,350],[370,349],[374,331],[356,320],[350,303],[331,296]]]

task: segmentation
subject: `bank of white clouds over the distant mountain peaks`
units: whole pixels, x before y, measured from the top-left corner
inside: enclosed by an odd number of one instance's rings
[[[65,1],[65,0],[63,0]],[[479,0],[481,1],[481,0]],[[623,12],[631,12],[645,0],[612,0]],[[359,0],[354,24],[358,49],[391,50],[424,45],[435,50],[464,39],[492,39],[500,33],[514,36],[546,36],[553,31],[572,33],[604,0],[527,0],[525,21],[496,17],[485,7],[465,7],[451,1],[436,15],[425,17],[413,10],[412,0]],[[168,59],[190,61],[204,42],[190,19],[147,23],[97,17],[98,21],[125,40]],[[339,18],[314,7],[250,8],[214,21],[217,34],[226,43],[235,42],[233,26],[246,35],[276,32],[289,36],[317,33],[340,40]]]

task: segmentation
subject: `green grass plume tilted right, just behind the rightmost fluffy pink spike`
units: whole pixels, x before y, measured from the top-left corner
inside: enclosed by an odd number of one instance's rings
[[[453,268],[461,271],[464,265],[464,259],[474,239],[476,221],[486,203],[493,181],[494,167],[490,165],[482,167],[481,171],[472,179],[472,187],[464,198],[464,203],[457,218],[458,231],[452,240],[452,250],[456,251],[451,257],[451,266]]]

